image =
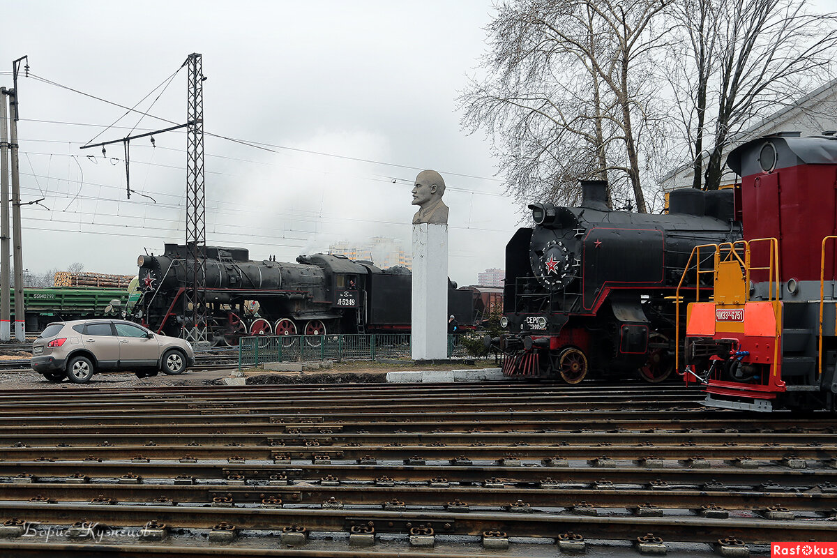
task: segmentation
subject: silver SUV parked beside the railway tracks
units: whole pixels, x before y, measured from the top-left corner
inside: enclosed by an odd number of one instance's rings
[[[85,384],[100,371],[133,371],[138,377],[157,376],[158,371],[182,374],[194,364],[187,341],[124,320],[55,322],[32,344],[31,366],[49,381],[66,376]]]

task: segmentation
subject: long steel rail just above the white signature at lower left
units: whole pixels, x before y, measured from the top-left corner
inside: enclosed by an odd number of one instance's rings
[[[698,517],[624,517],[501,512],[450,513],[370,509],[270,509],[159,505],[39,504],[0,501],[0,517],[65,525],[72,518],[104,525],[146,525],[157,520],[174,528],[207,529],[222,521],[239,529],[276,530],[302,525],[308,530],[345,531],[372,523],[377,532],[407,533],[409,525],[429,525],[439,535],[481,535],[503,530],[511,536],[547,536],[573,532],[588,538],[629,540],[654,533],[665,540],[713,543],[732,536],[748,542],[832,540],[829,521],[771,521]],[[594,535],[594,536],[593,536]]]

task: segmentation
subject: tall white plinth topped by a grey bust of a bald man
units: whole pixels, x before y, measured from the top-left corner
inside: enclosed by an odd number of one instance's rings
[[[448,207],[444,180],[421,171],[413,187],[413,360],[448,357]]]

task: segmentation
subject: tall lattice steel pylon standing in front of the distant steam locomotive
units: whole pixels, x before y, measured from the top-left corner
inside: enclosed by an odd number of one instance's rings
[[[183,337],[193,343],[207,340],[206,307],[206,193],[203,185],[203,61],[189,54],[187,82],[186,161],[186,290],[183,293]]]

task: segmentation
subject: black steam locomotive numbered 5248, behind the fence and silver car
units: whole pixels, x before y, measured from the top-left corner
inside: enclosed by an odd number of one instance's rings
[[[194,315],[206,315],[209,337],[237,345],[242,335],[326,335],[409,330],[411,279],[403,266],[379,269],[337,254],[299,256],[295,264],[252,261],[246,248],[206,248],[205,312],[184,303],[189,251],[166,244],[141,255],[140,298],[133,318],[151,330],[180,336]],[[449,314],[473,320],[474,295],[448,281]]]

